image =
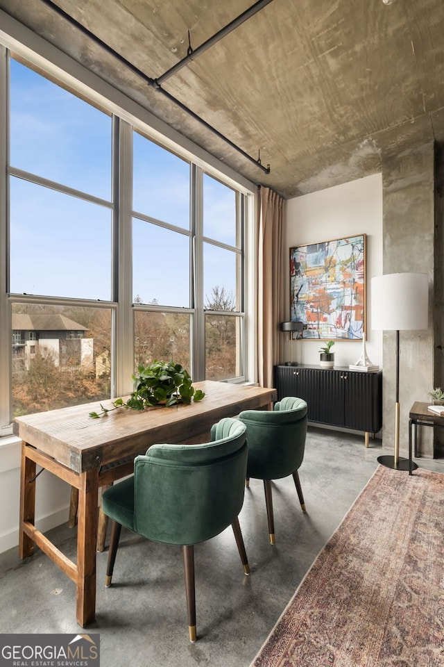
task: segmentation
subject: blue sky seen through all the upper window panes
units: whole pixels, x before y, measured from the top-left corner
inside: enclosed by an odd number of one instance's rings
[[[111,198],[112,120],[11,60],[10,163],[105,201]],[[189,165],[134,134],[133,208],[189,228]],[[111,212],[11,178],[10,290],[111,299]],[[204,176],[204,234],[235,244],[235,195]],[[189,306],[186,235],[135,221],[133,296]],[[161,279],[159,279],[161,277]],[[235,291],[234,254],[205,244],[204,295]]]

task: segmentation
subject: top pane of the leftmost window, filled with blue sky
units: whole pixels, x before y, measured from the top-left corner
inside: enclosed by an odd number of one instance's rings
[[[10,60],[11,165],[109,201],[110,140],[110,114]]]

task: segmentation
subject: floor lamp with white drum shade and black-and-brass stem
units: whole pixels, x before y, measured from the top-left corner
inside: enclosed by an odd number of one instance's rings
[[[400,457],[400,330],[427,329],[429,281],[425,273],[391,273],[372,278],[372,329],[396,331],[395,452],[378,456],[393,470],[409,470],[409,459]],[[411,470],[418,468],[411,463]]]

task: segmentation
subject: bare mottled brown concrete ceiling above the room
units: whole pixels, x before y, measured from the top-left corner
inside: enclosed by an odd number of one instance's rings
[[[151,79],[252,0],[54,0]],[[48,0],[0,8],[255,183],[285,197],[359,179],[444,138],[443,0],[273,0],[162,83],[253,158],[69,24]]]

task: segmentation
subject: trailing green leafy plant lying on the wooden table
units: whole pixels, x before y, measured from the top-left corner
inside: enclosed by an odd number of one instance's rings
[[[94,419],[108,414],[117,408],[131,408],[144,410],[146,407],[176,403],[190,404],[192,400],[201,401],[205,393],[193,386],[189,372],[173,361],[153,361],[146,366],[142,363],[131,376],[134,381],[134,390],[128,400],[117,398],[112,401],[112,408],[105,408],[100,404],[102,412],[90,412],[89,417]]]

